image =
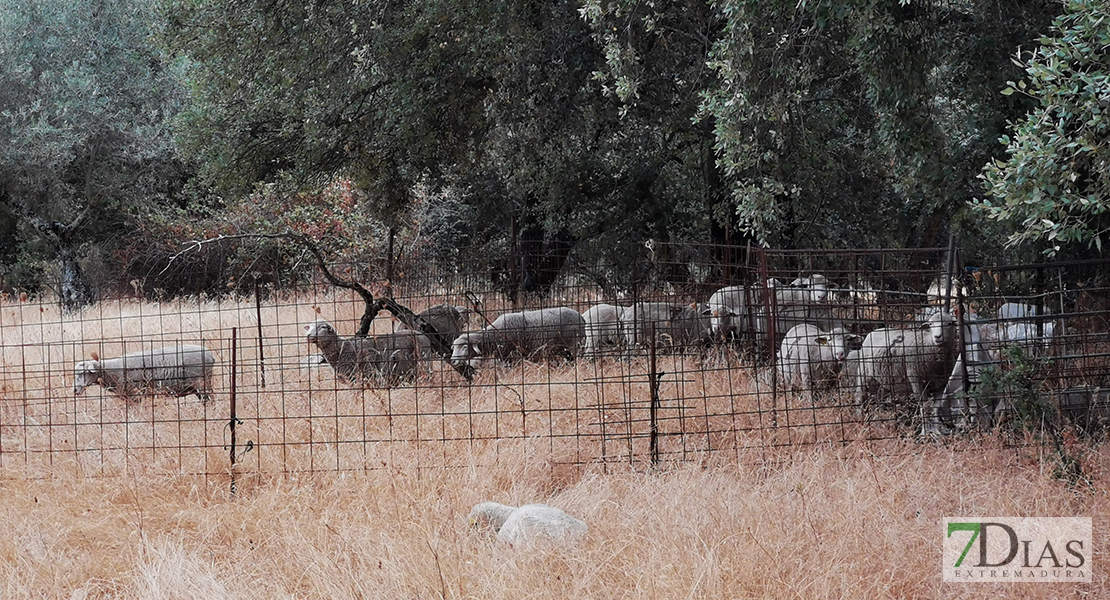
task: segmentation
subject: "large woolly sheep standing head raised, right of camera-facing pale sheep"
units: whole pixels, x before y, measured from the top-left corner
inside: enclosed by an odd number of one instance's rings
[[[956,317],[936,313],[917,329],[876,329],[864,338],[856,374],[856,404],[862,410],[872,390],[909,391],[926,415],[925,430],[935,433],[938,405],[959,355]]]

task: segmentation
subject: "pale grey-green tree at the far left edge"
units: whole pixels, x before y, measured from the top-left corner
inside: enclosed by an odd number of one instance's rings
[[[20,246],[8,258],[56,264],[67,308],[92,299],[91,245],[118,241],[183,181],[158,18],[157,0],[0,3],[0,204]]]

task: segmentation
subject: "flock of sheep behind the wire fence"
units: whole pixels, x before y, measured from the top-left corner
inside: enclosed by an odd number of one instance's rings
[[[477,330],[465,330],[466,308],[441,304],[416,315],[416,322],[426,325],[422,330],[342,338],[326,321],[316,321],[304,333],[319,348],[319,360],[339,377],[384,385],[411,379],[421,365],[436,359],[476,369],[490,360],[597,358],[649,344],[680,352],[729,339],[764,347],[773,340],[773,374],[784,387],[810,399],[825,389],[851,387],[861,410],[876,399],[908,397],[919,403],[929,431],[942,430],[957,413],[979,411],[989,419],[983,407],[961,404],[965,384],[985,365],[997,363],[1002,346],[1039,347],[1054,335],[1053,323],[1036,307],[1013,303],[1002,305],[998,319],[967,316],[962,335],[958,319],[938,306],[921,306],[910,326],[864,335],[836,317],[833,292],[825,276],[813,274],[788,285],[769,279],[724,287],[703,304],[639,302],[628,307],[597,304],[582,313],[568,307],[511,312]],[[436,348],[450,348],[451,354]],[[100,383],[125,397],[148,389],[196,394],[208,401],[214,365],[214,355],[203,346],[155,348],[104,360],[94,356],[77,364],[74,393]]]

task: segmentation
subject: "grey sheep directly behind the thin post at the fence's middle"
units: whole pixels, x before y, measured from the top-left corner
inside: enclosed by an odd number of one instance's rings
[[[620,315],[620,329],[628,348],[645,345],[655,327],[655,343],[684,349],[712,336],[710,319],[704,305],[638,302]]]

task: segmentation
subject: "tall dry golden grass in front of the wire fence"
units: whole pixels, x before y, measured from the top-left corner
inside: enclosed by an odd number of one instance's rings
[[[835,447],[760,466],[555,477],[543,440],[473,468],[389,468],[225,482],[158,472],[12,478],[0,490],[3,598],[1106,598],[1110,501],[987,438]],[[1107,464],[1106,450],[1091,457]],[[466,526],[474,504],[546,501],[589,523],[569,546],[508,547]],[[946,516],[1091,516],[1091,584],[940,581]]]

